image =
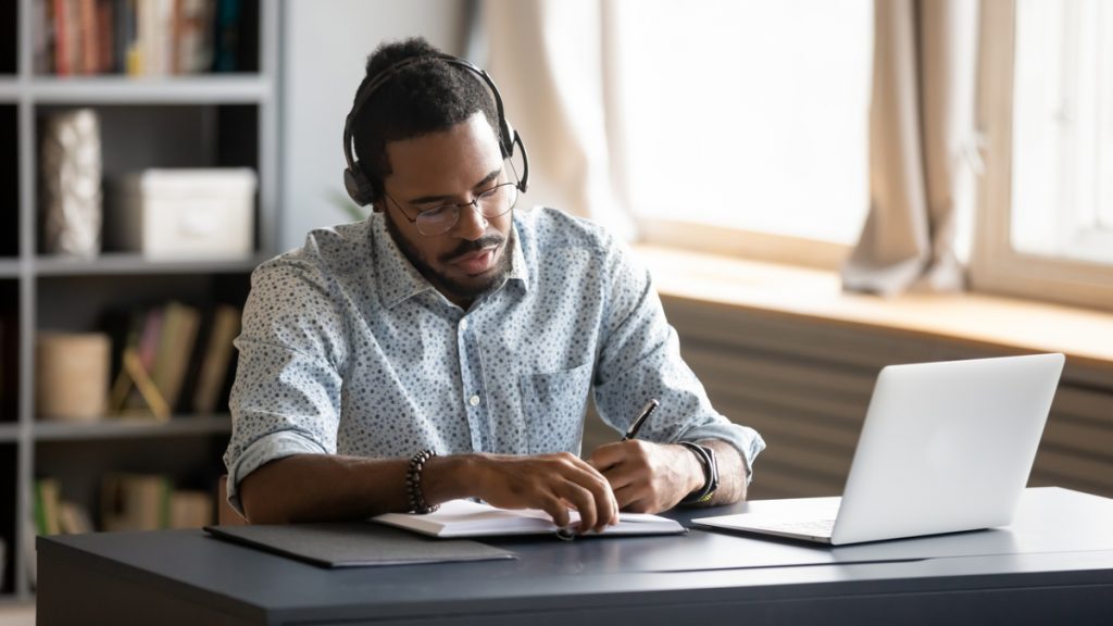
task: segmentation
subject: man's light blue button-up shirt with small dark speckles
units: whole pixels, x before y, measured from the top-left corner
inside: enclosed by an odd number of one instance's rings
[[[580,453],[588,397],[639,439],[721,439],[747,468],[765,448],[717,413],[681,360],[649,273],[590,222],[514,215],[506,281],[469,310],[406,260],[384,217],[309,233],[252,274],[225,453],[229,500],[298,453]]]

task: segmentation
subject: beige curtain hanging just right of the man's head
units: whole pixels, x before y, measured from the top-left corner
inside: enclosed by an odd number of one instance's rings
[[[529,205],[589,217],[624,238],[633,221],[611,146],[610,28],[599,0],[483,0],[485,65],[530,154]],[[573,123],[574,120],[574,123]]]

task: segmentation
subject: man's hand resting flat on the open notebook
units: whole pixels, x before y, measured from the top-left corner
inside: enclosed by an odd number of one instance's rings
[[[470,454],[467,464],[476,480],[470,490],[492,506],[541,509],[562,528],[572,508],[580,513],[581,532],[618,524],[619,505],[607,478],[574,454]]]

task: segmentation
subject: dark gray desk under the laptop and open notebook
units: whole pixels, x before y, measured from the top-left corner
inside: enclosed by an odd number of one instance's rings
[[[840,548],[699,530],[498,545],[519,560],[328,570],[199,530],[42,538],[38,619],[1113,624],[1113,500],[1056,488],[1027,490],[1006,529]]]

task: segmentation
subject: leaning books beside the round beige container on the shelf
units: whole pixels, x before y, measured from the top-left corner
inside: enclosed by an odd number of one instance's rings
[[[119,374],[110,399],[120,415],[168,419],[173,412],[211,414],[230,383],[239,310],[209,312],[180,302],[132,311],[119,345]]]

